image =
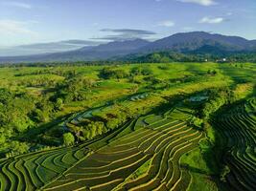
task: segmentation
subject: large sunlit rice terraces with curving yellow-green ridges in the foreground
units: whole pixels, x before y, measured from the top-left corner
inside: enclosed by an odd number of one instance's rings
[[[203,137],[186,121],[133,119],[106,137],[1,161],[0,190],[185,190],[190,174],[179,159]]]

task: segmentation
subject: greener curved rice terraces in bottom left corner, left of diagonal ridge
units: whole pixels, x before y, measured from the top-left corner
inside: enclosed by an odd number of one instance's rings
[[[0,190],[35,190],[88,154],[81,145],[31,153],[1,163]]]

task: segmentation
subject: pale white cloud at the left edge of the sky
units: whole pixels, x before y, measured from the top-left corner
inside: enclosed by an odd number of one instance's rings
[[[35,34],[35,32],[27,28],[27,25],[30,23],[33,22],[7,19],[0,20],[0,35]]]

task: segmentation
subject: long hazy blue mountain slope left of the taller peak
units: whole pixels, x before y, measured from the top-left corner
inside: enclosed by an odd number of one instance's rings
[[[47,61],[78,61],[78,60],[103,60],[113,56],[123,56],[133,53],[150,42],[143,39],[115,41],[95,47],[83,47],[76,51],[64,53],[44,53],[30,56],[5,56],[0,57],[0,62],[47,62]]]

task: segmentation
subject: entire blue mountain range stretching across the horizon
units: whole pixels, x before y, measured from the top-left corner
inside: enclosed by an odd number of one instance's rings
[[[77,44],[78,42],[80,41],[76,41]],[[43,48],[43,44],[41,46]],[[209,32],[182,32],[153,42],[144,39],[132,39],[113,41],[94,46],[84,46],[77,50],[62,53],[1,56],[0,63],[94,61],[114,57],[118,58],[128,54],[146,54],[165,51],[176,53],[256,53],[256,40],[247,40],[239,36],[228,36]]]

